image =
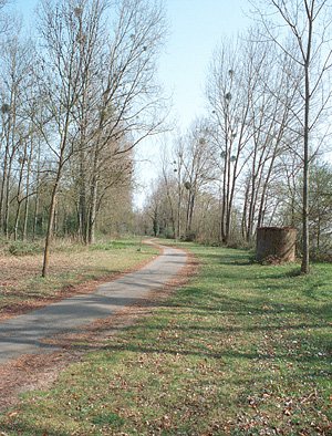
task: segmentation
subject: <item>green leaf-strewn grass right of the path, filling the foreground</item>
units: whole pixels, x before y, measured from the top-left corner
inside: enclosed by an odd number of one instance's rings
[[[332,266],[186,245],[199,274],[24,394],[6,435],[331,435]],[[92,376],[93,375],[93,376]]]

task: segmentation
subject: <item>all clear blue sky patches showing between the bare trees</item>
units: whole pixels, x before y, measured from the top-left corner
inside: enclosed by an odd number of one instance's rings
[[[38,0],[11,0],[23,19],[33,25]],[[169,34],[163,49],[158,79],[167,96],[172,95],[169,122],[185,132],[195,117],[204,114],[204,89],[208,65],[217,44],[225,37],[236,35],[250,23],[248,0],[164,0]],[[141,144],[136,150],[137,179],[135,204],[144,203],[158,166],[159,137]]]

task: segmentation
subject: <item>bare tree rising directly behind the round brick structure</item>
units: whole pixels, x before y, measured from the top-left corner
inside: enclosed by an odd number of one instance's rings
[[[255,42],[255,45],[261,43]],[[247,152],[248,185],[242,218],[247,241],[255,235],[256,226],[263,224],[267,194],[271,180],[278,177],[280,156],[288,154],[290,145],[299,139],[293,133],[292,112],[298,106],[298,93],[297,83],[289,77],[290,62],[281,55],[282,68],[276,71],[278,52],[273,46],[267,48],[267,51],[255,51],[252,58],[259,81],[250,103],[252,137]]]

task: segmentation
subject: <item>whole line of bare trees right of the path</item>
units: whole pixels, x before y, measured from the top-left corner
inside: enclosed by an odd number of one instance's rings
[[[208,113],[174,137],[142,226],[180,239],[252,245],[262,226],[299,229],[331,258],[331,6],[252,2],[256,23],[216,48]]]

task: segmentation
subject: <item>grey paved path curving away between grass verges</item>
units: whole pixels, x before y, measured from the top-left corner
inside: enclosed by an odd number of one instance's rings
[[[64,299],[0,323],[0,364],[22,354],[53,351],[40,341],[75,332],[84,324],[148,298],[149,291],[162,289],[187,261],[183,250],[163,248],[163,255],[141,270],[104,283],[92,293]]]

